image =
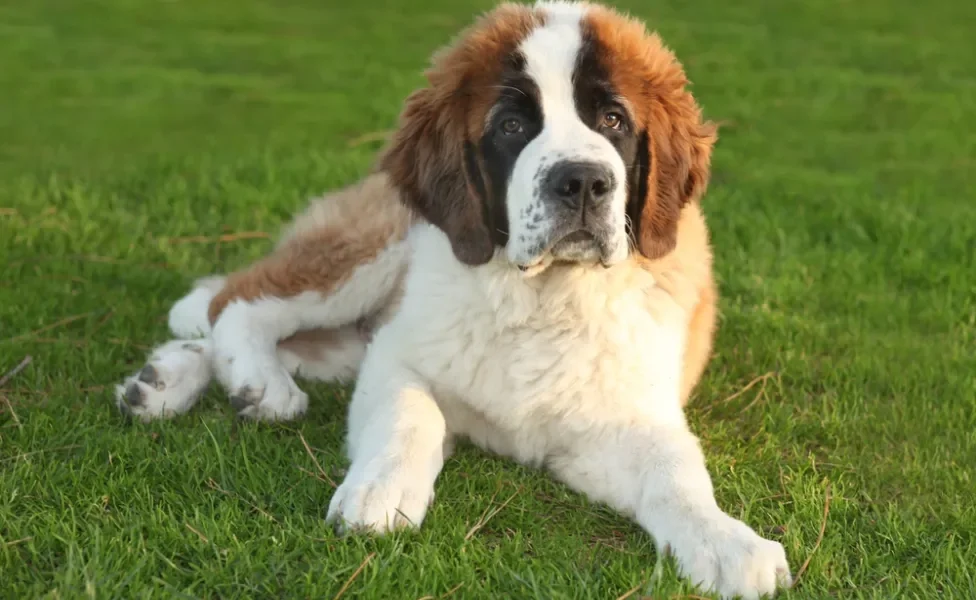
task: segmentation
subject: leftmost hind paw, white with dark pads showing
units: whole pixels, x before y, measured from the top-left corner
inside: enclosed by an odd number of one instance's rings
[[[146,366],[115,386],[115,405],[142,421],[183,414],[211,376],[210,340],[174,340],[153,350]]]

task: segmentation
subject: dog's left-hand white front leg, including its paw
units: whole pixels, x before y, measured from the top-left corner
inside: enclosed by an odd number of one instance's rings
[[[430,390],[381,354],[367,354],[349,406],[352,464],[328,512],[340,530],[419,526],[444,465],[447,427]]]

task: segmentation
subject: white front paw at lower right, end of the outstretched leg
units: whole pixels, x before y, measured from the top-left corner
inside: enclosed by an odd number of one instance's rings
[[[786,552],[748,525],[720,513],[695,528],[694,537],[671,544],[682,573],[723,598],[772,597],[792,584]]]

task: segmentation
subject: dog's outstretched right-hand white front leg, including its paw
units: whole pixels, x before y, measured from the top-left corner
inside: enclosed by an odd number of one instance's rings
[[[783,547],[718,507],[698,440],[683,423],[617,422],[590,431],[551,461],[554,471],[636,518],[695,584],[743,598],[789,585]]]

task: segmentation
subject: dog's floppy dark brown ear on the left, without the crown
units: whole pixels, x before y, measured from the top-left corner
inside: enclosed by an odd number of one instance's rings
[[[447,234],[457,259],[488,262],[495,251],[475,145],[467,139],[464,94],[438,81],[411,94],[380,160],[403,201]]]

